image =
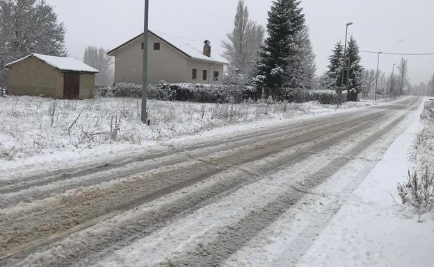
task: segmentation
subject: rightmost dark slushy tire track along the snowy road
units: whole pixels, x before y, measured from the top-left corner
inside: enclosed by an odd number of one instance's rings
[[[348,157],[356,157],[367,149],[374,141],[383,137],[387,132],[393,130],[407,114],[389,123],[385,128],[378,130],[368,139],[365,139],[355,148],[348,151]],[[339,171],[342,166],[348,162],[347,157],[341,157],[323,167],[310,177],[305,184],[305,190],[309,191],[321,184],[327,178]],[[287,212],[305,193],[297,190],[289,190],[284,194],[277,196],[274,201],[266,203],[259,209],[252,210],[247,216],[239,218],[235,224],[225,225],[214,233],[213,238],[206,243],[199,243],[182,255],[174,255],[166,261],[159,262],[154,266],[222,266],[231,255],[239,248],[256,236],[257,233],[264,230],[268,225],[273,223],[278,217]]]

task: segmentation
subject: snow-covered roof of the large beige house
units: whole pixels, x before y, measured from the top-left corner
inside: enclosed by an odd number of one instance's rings
[[[152,35],[155,35],[157,38],[168,43],[170,46],[177,49],[178,51],[180,51],[181,53],[186,55],[188,58],[192,58],[195,60],[202,60],[202,61],[206,61],[206,62],[229,64],[229,62],[227,62],[227,60],[225,60],[224,58],[220,57],[220,55],[212,55],[211,54],[211,57],[204,55],[202,52],[203,51],[202,47],[197,45],[197,44],[200,44],[200,42],[197,42],[194,40],[188,40],[188,39],[185,39],[182,37],[177,37],[177,36],[170,35],[167,33],[157,32],[158,34],[156,34],[156,32],[154,32],[154,31],[149,31],[149,33],[151,33]],[[141,33],[140,35],[134,37],[133,39],[125,42],[124,44],[121,44],[120,46],[116,47],[112,51],[109,51],[109,53],[107,53],[107,54],[110,55],[114,51],[120,49],[122,46],[129,44],[129,42],[132,42],[139,37],[143,37],[143,33]]]

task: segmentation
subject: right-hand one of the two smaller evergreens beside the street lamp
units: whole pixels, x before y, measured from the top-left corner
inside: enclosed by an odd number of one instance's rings
[[[345,66],[350,66],[348,101],[357,101],[358,95],[363,91],[363,67],[360,65],[359,46],[353,36],[350,37],[348,42],[348,49],[346,50]],[[347,69],[344,71],[344,85],[347,82]]]

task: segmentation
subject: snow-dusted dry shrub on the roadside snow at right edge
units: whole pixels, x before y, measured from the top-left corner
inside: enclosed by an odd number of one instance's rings
[[[408,180],[398,184],[398,193],[403,205],[410,204],[419,214],[431,212],[434,207],[434,173],[428,170],[418,175],[408,171]]]

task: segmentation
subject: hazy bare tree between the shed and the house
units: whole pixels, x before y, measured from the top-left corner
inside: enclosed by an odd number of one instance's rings
[[[83,61],[91,67],[99,70],[99,74],[95,76],[97,85],[111,86],[113,85],[113,60],[103,48],[88,46],[84,51]]]

